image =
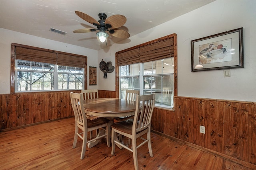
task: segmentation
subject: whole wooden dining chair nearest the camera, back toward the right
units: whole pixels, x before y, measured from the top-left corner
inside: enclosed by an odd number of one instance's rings
[[[151,118],[155,105],[155,94],[138,95],[136,98],[136,111],[134,115],[134,121],[120,121],[112,125],[112,151],[111,154],[114,155],[116,144],[120,145],[122,148],[128,149],[133,153],[134,167],[138,170],[138,156],[137,149],[148,143],[148,150],[151,157],[153,157],[153,152],[151,148]],[[140,105],[142,103],[142,107]],[[124,145],[118,139],[116,139],[117,134],[126,136],[132,139],[132,149]],[[147,134],[147,139],[144,139],[142,135]],[[144,140],[142,143],[137,145],[137,138]]]

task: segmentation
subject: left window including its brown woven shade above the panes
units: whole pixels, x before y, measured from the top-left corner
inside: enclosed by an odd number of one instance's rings
[[[12,51],[15,57],[11,58],[15,63],[15,69],[11,69],[14,92],[87,88],[86,56],[21,46],[12,44],[15,49]]]

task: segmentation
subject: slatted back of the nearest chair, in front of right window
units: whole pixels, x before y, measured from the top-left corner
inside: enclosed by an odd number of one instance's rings
[[[133,132],[139,132],[150,128],[156,94],[137,95],[136,111],[133,121]],[[142,107],[140,108],[140,103]]]

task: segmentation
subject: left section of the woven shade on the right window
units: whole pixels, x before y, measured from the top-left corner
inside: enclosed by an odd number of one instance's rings
[[[117,55],[117,63],[118,66],[129,65],[133,63],[139,63],[139,49],[133,49],[130,51],[126,51],[124,53],[120,53]]]

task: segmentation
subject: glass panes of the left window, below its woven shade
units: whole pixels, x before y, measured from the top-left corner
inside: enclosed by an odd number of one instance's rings
[[[15,78],[16,92],[83,89],[84,69],[16,60]]]

